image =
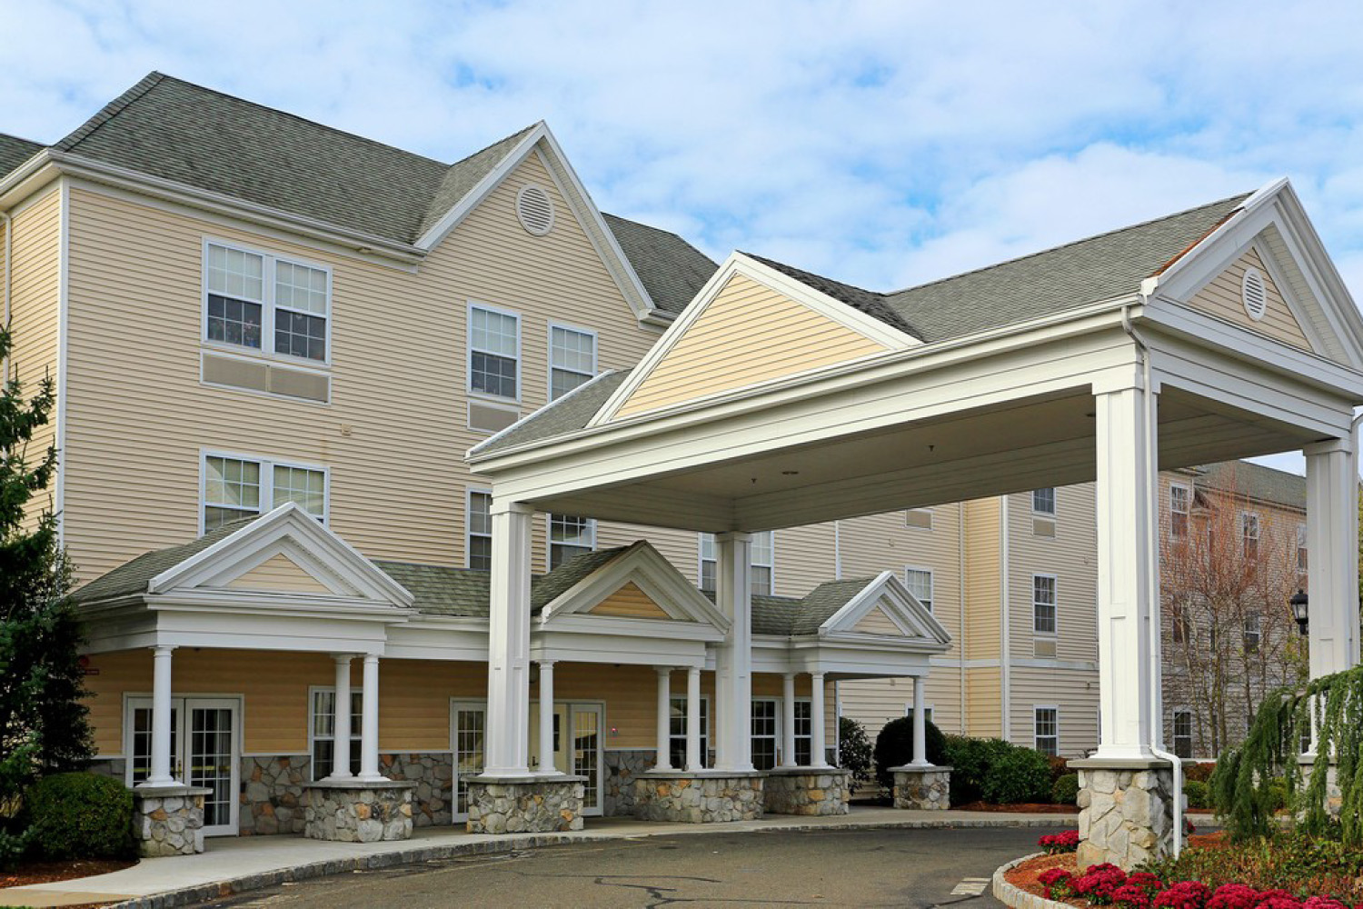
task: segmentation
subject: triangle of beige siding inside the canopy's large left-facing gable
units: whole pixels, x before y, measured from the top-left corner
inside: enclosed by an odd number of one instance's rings
[[[885,349],[771,288],[736,274],[616,416],[627,417]]]

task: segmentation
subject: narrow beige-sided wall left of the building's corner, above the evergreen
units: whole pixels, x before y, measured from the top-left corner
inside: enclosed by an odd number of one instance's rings
[[[57,379],[59,294],[61,274],[61,191],[52,184],[12,215],[12,274],[10,282],[10,330],[14,346],[10,375],[22,383],[23,395],[31,399],[44,376]],[[0,249],[4,248],[0,226]],[[10,263],[7,263],[10,264]],[[29,443],[27,459],[37,462],[56,440],[56,409],[45,427]],[[30,525],[38,514],[55,507],[56,484],[29,503]]]

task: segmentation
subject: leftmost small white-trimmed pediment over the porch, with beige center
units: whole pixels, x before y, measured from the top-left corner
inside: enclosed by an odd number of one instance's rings
[[[210,590],[412,605],[406,589],[293,503],[218,540],[147,585],[150,594]]]

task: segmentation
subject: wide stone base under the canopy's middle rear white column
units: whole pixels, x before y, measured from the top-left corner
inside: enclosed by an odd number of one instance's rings
[[[725,823],[758,820],[762,811],[756,770],[650,770],[634,781],[634,815],[641,820]]]

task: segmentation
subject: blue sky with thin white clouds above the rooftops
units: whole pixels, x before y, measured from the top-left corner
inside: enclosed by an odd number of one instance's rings
[[[1363,4],[0,0],[0,131],[151,70],[872,289],[1292,179],[1363,298]],[[1293,463],[1291,459],[1276,463]]]

